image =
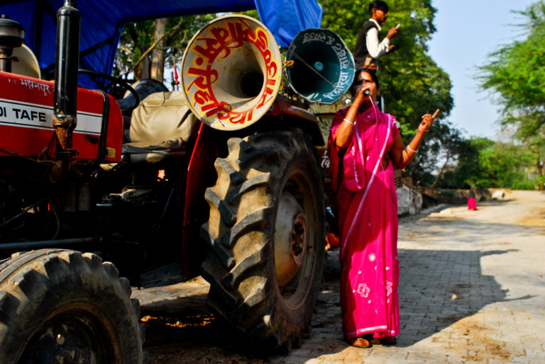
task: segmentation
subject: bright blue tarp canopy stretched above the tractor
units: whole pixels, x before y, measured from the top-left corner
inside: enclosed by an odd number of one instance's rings
[[[63,4],[63,0],[1,1],[0,14],[23,25],[25,43],[45,73],[55,67],[56,14]],[[111,74],[121,29],[128,22],[257,8],[278,45],[288,47],[300,30],[319,28],[322,15],[316,0],[79,0],[76,7],[82,14],[80,67],[106,74]]]

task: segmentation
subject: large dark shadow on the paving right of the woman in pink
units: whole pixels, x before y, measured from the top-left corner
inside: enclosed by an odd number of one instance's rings
[[[505,301],[507,290],[491,275],[483,275],[480,259],[510,251],[400,249],[398,346],[414,345],[487,305]]]

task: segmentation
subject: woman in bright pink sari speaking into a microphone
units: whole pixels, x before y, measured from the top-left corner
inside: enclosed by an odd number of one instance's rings
[[[394,166],[414,157],[434,115],[403,146],[395,118],[375,106],[378,79],[356,74],[356,98],[331,125],[329,149],[341,232],[341,307],[345,339],[353,346],[395,344],[400,333],[397,284],[397,195]]]

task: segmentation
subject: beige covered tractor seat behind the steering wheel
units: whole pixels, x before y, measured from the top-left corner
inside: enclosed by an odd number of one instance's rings
[[[152,93],[133,110],[131,142],[123,144],[123,155],[131,163],[184,157],[185,142],[197,122],[183,91]]]

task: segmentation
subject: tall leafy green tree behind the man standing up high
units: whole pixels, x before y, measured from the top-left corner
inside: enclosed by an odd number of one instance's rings
[[[434,183],[431,176],[436,169],[438,154],[444,148],[449,137],[460,139],[456,129],[447,123],[446,117],[453,108],[451,81],[448,74],[437,66],[427,54],[426,42],[434,33],[434,14],[436,9],[431,0],[391,0],[390,16],[382,29],[400,23],[401,30],[392,41],[400,49],[392,55],[380,59],[378,76],[382,96],[385,99],[385,111],[396,115],[402,125],[404,143],[407,144],[416,132],[422,115],[441,109],[438,119],[431,128],[424,143],[419,147],[419,154],[413,163],[407,166],[407,174],[414,180]],[[369,19],[368,0],[324,0],[323,28],[329,28],[346,42],[353,50],[363,24]],[[451,143],[451,150],[446,152],[453,157],[456,143]]]

